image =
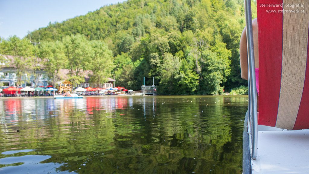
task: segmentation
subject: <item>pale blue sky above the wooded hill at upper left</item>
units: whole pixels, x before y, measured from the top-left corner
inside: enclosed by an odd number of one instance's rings
[[[28,31],[61,22],[125,0],[0,0],[0,37],[24,37]]]

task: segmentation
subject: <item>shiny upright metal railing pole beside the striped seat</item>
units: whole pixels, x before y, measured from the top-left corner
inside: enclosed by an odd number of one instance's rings
[[[248,81],[249,81],[249,145],[251,158],[256,159],[257,153],[257,98],[256,98],[256,79],[255,79],[255,64],[254,64],[254,45],[253,45],[253,30],[252,30],[252,13],[251,1],[244,0],[245,17],[246,17],[246,33],[247,33],[247,50],[248,50]]]

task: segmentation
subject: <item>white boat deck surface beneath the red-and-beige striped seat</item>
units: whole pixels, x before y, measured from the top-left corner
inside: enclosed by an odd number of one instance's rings
[[[259,131],[253,174],[309,173],[309,130]]]

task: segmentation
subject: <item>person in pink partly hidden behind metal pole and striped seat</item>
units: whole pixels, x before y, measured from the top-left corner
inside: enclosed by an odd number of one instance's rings
[[[257,18],[252,20],[253,30],[253,45],[254,45],[254,63],[255,63],[255,77],[256,77],[256,91],[259,94],[259,38],[257,30]],[[248,80],[248,51],[247,51],[247,35],[246,27],[240,37],[240,70],[241,78]]]

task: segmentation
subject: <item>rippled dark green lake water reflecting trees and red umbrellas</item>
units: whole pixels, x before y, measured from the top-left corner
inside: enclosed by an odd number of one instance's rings
[[[248,96],[0,99],[0,173],[242,172]]]

